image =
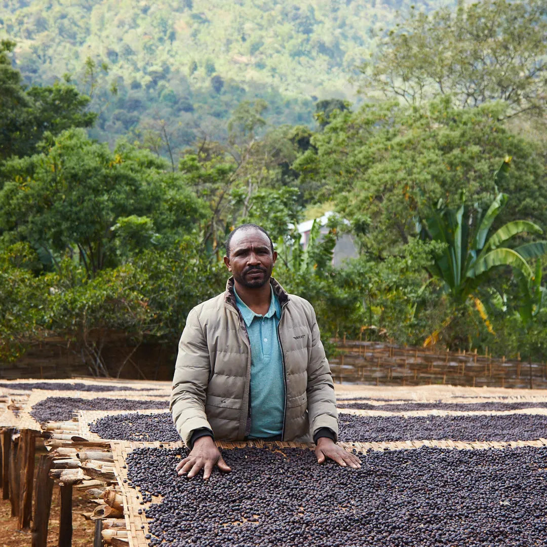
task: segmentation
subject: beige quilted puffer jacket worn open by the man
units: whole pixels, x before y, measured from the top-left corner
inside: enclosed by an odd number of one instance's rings
[[[333,379],[313,307],[273,278],[270,283],[281,305],[283,440],[310,441],[321,427],[337,436]],[[201,427],[212,429],[217,440],[243,440],[251,429],[251,348],[233,286],[230,278],[225,293],[190,311],[178,345],[170,408],[187,446]]]

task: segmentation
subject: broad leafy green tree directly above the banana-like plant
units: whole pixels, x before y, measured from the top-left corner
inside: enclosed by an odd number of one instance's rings
[[[498,120],[504,109],[502,103],[455,108],[447,98],[422,107],[368,104],[331,118],[293,168],[318,201],[335,201],[373,255],[397,254],[415,234],[415,217],[439,199],[458,207],[465,191],[467,205],[487,208],[496,193],[491,173],[505,155],[515,167],[498,183],[511,195],[503,219],[527,218],[546,228],[543,160],[536,144]]]

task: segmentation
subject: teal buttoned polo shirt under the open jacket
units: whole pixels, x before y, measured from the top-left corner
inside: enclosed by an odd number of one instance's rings
[[[236,304],[251,342],[251,438],[281,435],[285,413],[283,356],[277,336],[281,306],[271,289],[270,309],[258,315],[237,295]]]

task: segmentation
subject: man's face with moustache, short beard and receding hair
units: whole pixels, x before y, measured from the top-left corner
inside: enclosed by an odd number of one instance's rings
[[[270,280],[276,258],[266,234],[249,228],[234,234],[230,256],[224,257],[224,263],[238,284],[253,289],[264,287]]]

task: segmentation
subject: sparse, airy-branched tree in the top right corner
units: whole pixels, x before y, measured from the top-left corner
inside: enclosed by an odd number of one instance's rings
[[[364,86],[416,104],[453,95],[462,107],[502,100],[503,114],[545,110],[547,5],[486,0],[412,9],[364,63]]]

